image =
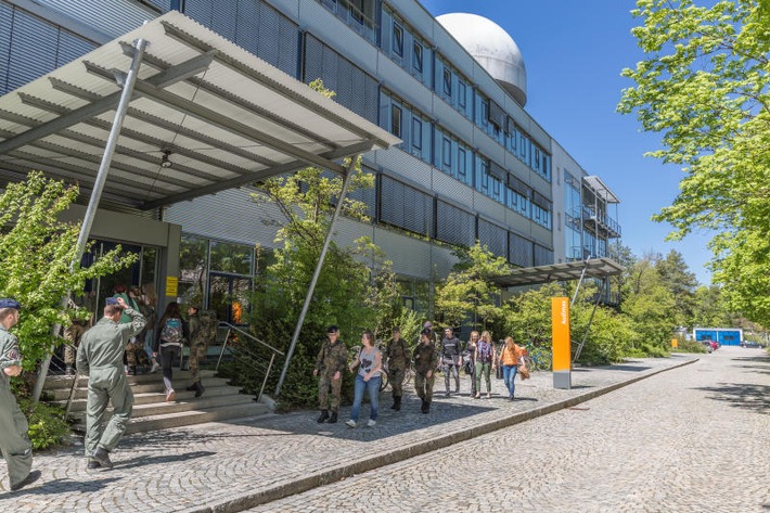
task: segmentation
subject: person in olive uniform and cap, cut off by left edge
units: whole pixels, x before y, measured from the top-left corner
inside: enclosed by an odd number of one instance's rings
[[[27,419],[11,393],[11,377],[22,373],[18,339],[8,330],[18,322],[18,302],[0,299],[0,450],[8,463],[11,491],[16,491],[40,478],[33,467],[33,445],[29,443]]]

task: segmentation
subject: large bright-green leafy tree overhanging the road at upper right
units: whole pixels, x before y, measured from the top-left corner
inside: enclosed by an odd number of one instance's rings
[[[632,34],[649,57],[624,69],[636,85],[618,110],[662,133],[663,148],[649,155],[684,171],[680,194],[655,219],[673,226],[673,239],[698,228],[722,232],[713,244],[714,280],[730,287],[734,309],[766,320],[767,305],[753,297],[769,297],[770,283],[753,280],[770,275],[766,253],[754,246],[770,229],[768,2],[637,5],[632,13],[643,24]],[[758,272],[745,272],[746,265]]]

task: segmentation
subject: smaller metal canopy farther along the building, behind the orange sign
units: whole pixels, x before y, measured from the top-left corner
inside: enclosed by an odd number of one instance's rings
[[[510,274],[493,279],[500,286],[537,285],[553,281],[580,280],[581,278],[598,278],[617,275],[624,268],[611,258],[592,258],[589,260],[567,261],[551,266],[526,267],[514,269]]]

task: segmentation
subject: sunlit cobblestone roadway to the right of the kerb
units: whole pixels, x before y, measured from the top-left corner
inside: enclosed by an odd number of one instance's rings
[[[768,512],[770,358],[722,347],[579,407],[249,511]]]

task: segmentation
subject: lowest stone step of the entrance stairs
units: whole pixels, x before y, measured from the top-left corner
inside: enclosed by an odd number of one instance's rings
[[[268,405],[249,400],[248,402],[240,405],[228,405],[205,410],[191,410],[131,419],[131,422],[126,426],[126,434],[170,429],[174,427],[230,419],[245,419],[267,413],[270,413]],[[86,431],[86,425],[84,423],[77,423],[73,425],[73,428],[82,433]]]

